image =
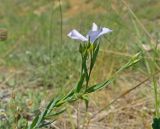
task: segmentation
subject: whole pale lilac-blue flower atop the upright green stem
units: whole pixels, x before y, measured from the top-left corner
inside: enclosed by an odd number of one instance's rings
[[[73,29],[68,36],[71,39],[80,40],[83,42],[88,42],[90,40],[91,43],[94,43],[99,37],[102,35],[112,32],[112,30],[105,27],[98,27],[95,23],[92,24],[92,29],[88,32],[87,36],[83,36],[77,30]]]

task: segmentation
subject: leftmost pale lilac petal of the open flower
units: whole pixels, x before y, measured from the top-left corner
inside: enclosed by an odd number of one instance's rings
[[[88,41],[86,37],[84,37],[82,34],[80,34],[77,30],[73,29],[69,34],[68,37],[71,39],[75,40],[80,40],[80,41]]]

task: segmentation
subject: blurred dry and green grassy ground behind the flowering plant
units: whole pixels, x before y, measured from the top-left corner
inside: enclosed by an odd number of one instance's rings
[[[150,79],[107,105],[150,76],[149,45],[160,43],[160,1],[62,0],[61,7],[62,13],[56,0],[0,0],[0,30],[8,31],[7,40],[0,31],[0,129],[23,128],[53,96],[74,86],[79,44],[66,35],[73,28],[85,33],[92,22],[113,33],[102,39],[90,83],[109,78],[138,51],[147,53],[145,59],[90,95],[87,115],[84,103],[68,104],[67,112],[46,128],[75,129],[88,123],[88,129],[151,129],[155,110]]]

